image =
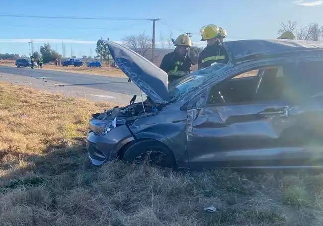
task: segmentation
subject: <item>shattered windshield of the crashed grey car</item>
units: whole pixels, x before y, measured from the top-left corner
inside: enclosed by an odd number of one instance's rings
[[[174,102],[188,92],[198,89],[201,84],[226,71],[228,67],[226,64],[214,64],[175,80],[168,86],[170,102]]]

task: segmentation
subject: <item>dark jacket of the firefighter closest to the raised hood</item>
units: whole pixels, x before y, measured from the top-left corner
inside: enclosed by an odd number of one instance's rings
[[[168,82],[185,76],[191,72],[193,65],[189,56],[181,57],[176,51],[166,54],[161,61],[160,69],[168,74]]]

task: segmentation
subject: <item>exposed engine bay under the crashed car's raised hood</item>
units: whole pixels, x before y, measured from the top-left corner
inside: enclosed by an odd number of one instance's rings
[[[115,106],[112,109],[104,110],[102,113],[93,114],[93,118],[97,120],[106,120],[110,117],[121,118],[131,118],[141,115],[156,113],[164,108],[164,104],[156,106],[156,104],[149,97],[142,102],[134,103],[136,100],[136,95],[130,101],[130,105],[126,107]]]

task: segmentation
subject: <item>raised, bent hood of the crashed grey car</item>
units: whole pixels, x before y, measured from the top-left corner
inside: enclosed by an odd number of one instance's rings
[[[115,42],[102,40],[108,44],[113,60],[147,96],[155,103],[168,103],[168,75],[156,65],[136,52]]]

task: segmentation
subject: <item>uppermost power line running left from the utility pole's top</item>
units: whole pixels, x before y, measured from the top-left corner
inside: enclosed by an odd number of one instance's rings
[[[38,16],[38,15],[14,15],[0,14],[2,17],[46,18],[46,19],[90,19],[90,20],[147,20],[147,18],[131,17],[85,17],[85,16]]]

